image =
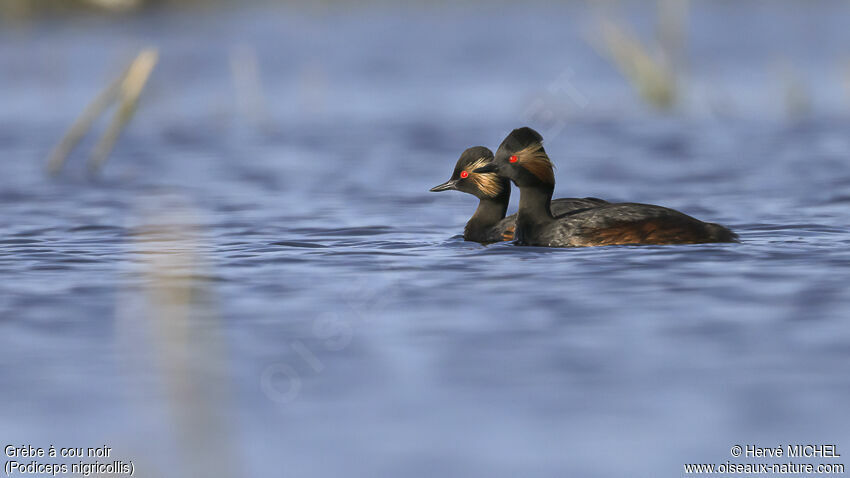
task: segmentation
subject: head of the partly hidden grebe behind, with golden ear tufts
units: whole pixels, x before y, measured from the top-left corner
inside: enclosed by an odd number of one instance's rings
[[[479,199],[493,199],[505,193],[510,193],[507,179],[497,174],[477,173],[479,169],[493,161],[493,152],[484,146],[474,146],[467,149],[457,160],[451,179],[431,188],[432,192],[463,191],[475,195]]]

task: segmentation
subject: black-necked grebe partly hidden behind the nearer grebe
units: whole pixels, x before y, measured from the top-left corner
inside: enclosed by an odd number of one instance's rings
[[[467,149],[457,160],[451,179],[431,191],[463,191],[479,199],[478,209],[466,223],[463,238],[475,242],[510,241],[514,238],[516,214],[505,217],[511,199],[511,182],[495,173],[476,173],[475,169],[493,161],[493,152],[484,146]],[[552,213],[565,214],[587,209],[606,201],[596,198],[565,198],[552,201]]]

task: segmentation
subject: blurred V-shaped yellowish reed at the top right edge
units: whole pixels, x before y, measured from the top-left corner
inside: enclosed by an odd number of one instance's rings
[[[648,104],[670,110],[679,100],[685,59],[687,0],[658,0],[657,41],[647,46],[626,27],[603,21],[601,42],[592,42]]]

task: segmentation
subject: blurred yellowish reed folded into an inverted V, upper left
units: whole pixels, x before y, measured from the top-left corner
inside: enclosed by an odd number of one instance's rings
[[[119,102],[118,110],[88,161],[89,171],[97,172],[100,170],[109,158],[109,154],[115,147],[121,132],[136,112],[139,97],[156,66],[158,58],[159,54],[156,49],[143,50],[118,78],[97,95],[94,101],[71,124],[62,140],[50,153],[47,160],[49,174],[55,175],[62,170],[68,156],[91,130],[94,122],[117,101]]]

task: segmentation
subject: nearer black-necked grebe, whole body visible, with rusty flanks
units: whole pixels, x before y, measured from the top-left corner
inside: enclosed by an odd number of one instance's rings
[[[519,187],[515,239],[520,245],[699,244],[738,239],[719,224],[650,204],[603,204],[553,215],[549,210],[555,189],[552,162],[543,149],[543,138],[531,128],[513,130],[494,160],[473,173],[497,173]]]

